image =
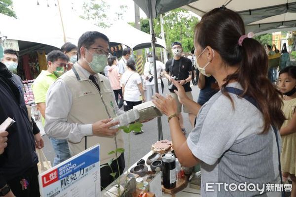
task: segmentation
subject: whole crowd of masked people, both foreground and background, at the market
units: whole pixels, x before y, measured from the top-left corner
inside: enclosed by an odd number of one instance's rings
[[[53,165],[99,143],[101,165],[113,158],[111,168],[101,167],[101,186],[106,188],[111,174],[116,178],[125,168],[124,153],[109,154],[124,143],[121,132],[111,129],[118,124],[112,118],[152,100],[168,116],[179,162],[201,165],[202,196],[258,196],[259,191],[218,191],[217,185],[208,192],[207,183],[278,184],[282,177],[292,181],[291,195],[296,196],[296,67],[284,66],[276,87],[267,78],[271,71],[264,47],[246,35],[241,17],[225,7],[202,17],[194,48],[193,63],[182,56],[178,41],[165,65],[155,61],[154,66],[149,52],[143,76],[132,49],[124,48],[118,61],[109,53],[109,38],[99,32],[83,33],[77,46],[68,42],[48,53],[47,70],[40,72],[32,90],[56,154]],[[22,80],[11,73],[18,54],[0,45],[0,59],[0,123],[8,117],[15,121],[0,131],[0,196],[39,197],[36,149],[44,142],[28,115]],[[191,73],[192,66],[196,73]],[[197,102],[190,87],[194,75],[200,89]],[[167,96],[162,96],[162,77],[171,83]],[[193,128],[187,138],[182,106]]]

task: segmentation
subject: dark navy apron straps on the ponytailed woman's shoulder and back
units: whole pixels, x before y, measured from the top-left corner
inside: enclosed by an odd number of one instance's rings
[[[237,89],[237,88],[233,88],[233,87],[226,87],[225,90],[228,93],[232,93],[235,94],[237,96],[242,95],[244,91]],[[251,102],[255,107],[257,107],[259,109],[258,103],[256,102],[256,100],[250,96],[244,96],[244,99],[248,100],[249,102]],[[274,134],[275,134],[275,139],[276,139],[276,144],[277,144],[277,148],[278,148],[278,158],[279,158],[279,171],[280,171],[280,178],[281,178],[281,183],[283,183],[283,178],[282,178],[282,167],[281,167],[281,154],[280,154],[280,144],[279,144],[279,139],[278,139],[278,132],[277,129],[275,128],[274,125],[271,125]],[[283,195],[283,194],[282,194]]]

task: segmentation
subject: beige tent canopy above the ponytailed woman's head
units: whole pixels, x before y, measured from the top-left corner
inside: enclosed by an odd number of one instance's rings
[[[202,16],[222,5],[240,14],[246,32],[277,31],[283,27],[296,29],[296,0],[197,0],[183,8]]]

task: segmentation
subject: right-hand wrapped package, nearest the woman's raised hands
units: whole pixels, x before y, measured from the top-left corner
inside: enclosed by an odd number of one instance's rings
[[[156,108],[152,101],[143,102],[142,104],[134,106],[134,109],[139,111],[138,122],[150,120],[158,116],[162,116],[162,113]]]

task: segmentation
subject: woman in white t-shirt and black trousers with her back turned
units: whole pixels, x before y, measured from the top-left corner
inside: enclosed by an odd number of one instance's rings
[[[121,87],[124,99],[124,111],[128,111],[142,101],[145,102],[142,80],[136,71],[135,61],[129,59],[126,62],[127,71],[122,74]]]

